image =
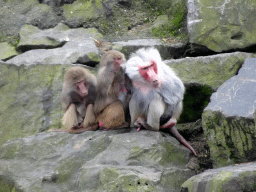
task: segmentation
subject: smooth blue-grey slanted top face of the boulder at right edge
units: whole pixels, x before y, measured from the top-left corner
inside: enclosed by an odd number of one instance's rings
[[[227,117],[253,119],[256,110],[256,59],[247,58],[238,75],[226,81],[212,95],[205,110],[220,111]]]

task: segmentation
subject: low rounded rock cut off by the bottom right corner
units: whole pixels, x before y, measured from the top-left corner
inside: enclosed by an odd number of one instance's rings
[[[181,192],[255,191],[256,163],[210,169],[182,184]]]

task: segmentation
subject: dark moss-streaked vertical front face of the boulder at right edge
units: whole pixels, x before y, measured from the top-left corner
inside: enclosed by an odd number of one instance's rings
[[[227,118],[220,112],[207,110],[203,112],[202,122],[214,167],[255,159],[253,120]]]

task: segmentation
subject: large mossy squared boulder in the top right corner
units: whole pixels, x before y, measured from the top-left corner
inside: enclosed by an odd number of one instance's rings
[[[215,52],[256,44],[254,1],[188,0],[187,28],[190,43]]]

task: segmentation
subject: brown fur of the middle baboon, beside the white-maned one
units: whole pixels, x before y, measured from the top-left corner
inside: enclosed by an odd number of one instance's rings
[[[125,123],[123,104],[119,100],[119,95],[125,88],[125,77],[121,66],[115,62],[116,58],[125,61],[124,55],[119,51],[106,52],[100,61],[97,75],[94,112],[97,121],[102,122],[106,129],[122,127]]]

